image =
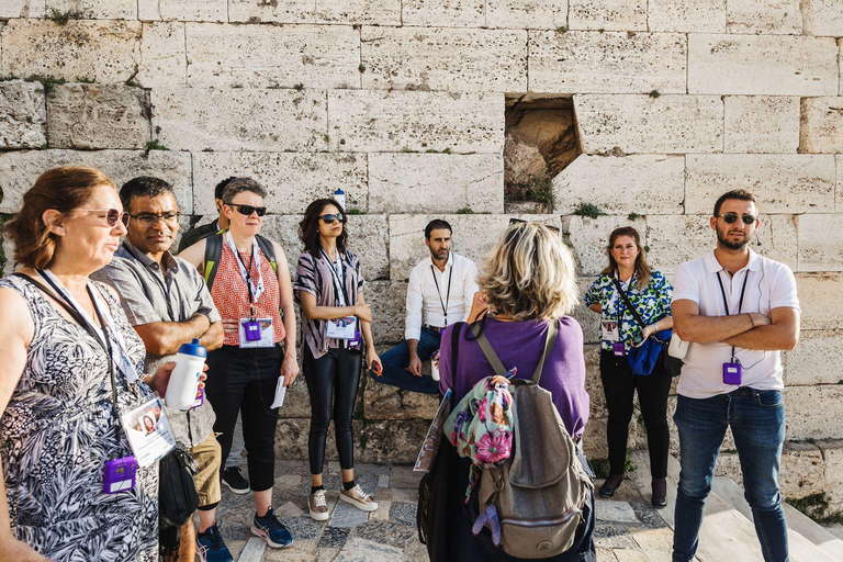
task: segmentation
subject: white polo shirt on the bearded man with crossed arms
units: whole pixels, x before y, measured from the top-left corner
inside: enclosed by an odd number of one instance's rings
[[[720,276],[726,296],[729,300],[729,314],[738,314],[741,288],[746,280],[741,313],[757,312],[769,316],[773,308],[789,306],[799,310],[796,296],[796,279],[790,268],[778,261],[758,256],[750,250],[746,267],[732,278],[723,269],[713,250],[692,261],[686,261],[676,270],[673,279],[673,302],[693,301],[699,305],[702,316],[724,316]],[[749,276],[749,278],[746,277]],[[742,386],[755,390],[783,390],[782,352],[734,348],[735,357],[743,366]],[[731,361],[732,346],[713,341],[694,344],[685,356],[685,366],[677,392],[689,398],[708,398],[726,394],[738,386],[723,384],[723,363]]]

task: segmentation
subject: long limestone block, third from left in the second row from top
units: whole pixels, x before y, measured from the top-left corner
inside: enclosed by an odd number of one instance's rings
[[[187,45],[190,86],[360,86],[360,34],[350,25],[188,23]]]

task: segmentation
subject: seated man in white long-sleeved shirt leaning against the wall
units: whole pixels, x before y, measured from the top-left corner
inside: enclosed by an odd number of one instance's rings
[[[400,389],[437,394],[439,383],[422,374],[422,362],[439,349],[441,331],[469,317],[477,292],[477,267],[451,251],[451,225],[434,220],[425,228],[425,258],[409,274],[404,341],[381,356],[383,374],[369,374],[378,382]]]

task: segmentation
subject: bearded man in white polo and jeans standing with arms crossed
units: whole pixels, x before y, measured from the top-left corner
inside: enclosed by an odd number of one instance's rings
[[[764,560],[786,561],[778,488],[785,440],[780,352],[799,339],[796,280],[787,266],[748,247],[758,227],[751,193],[721,195],[710,222],[717,248],[679,266],[673,282],[674,329],[692,342],[673,418],[682,454],[673,562],[694,559],[728,426]]]

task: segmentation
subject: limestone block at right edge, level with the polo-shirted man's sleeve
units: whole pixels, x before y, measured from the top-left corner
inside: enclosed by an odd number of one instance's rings
[[[843,294],[843,276],[799,273],[796,286],[802,310],[802,329],[843,328],[843,303],[830,296]]]

